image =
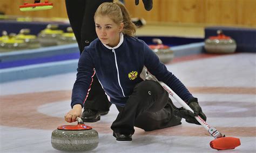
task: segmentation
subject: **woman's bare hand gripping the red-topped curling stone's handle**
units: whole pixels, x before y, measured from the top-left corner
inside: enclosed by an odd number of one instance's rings
[[[80,104],[74,105],[73,108],[66,113],[66,115],[64,116],[65,121],[66,122],[75,122],[76,121],[76,117],[81,116],[82,114],[82,106]]]

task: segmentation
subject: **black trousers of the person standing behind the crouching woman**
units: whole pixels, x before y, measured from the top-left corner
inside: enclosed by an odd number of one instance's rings
[[[98,6],[104,2],[113,2],[113,0],[65,0],[70,25],[75,33],[80,54],[85,46],[97,38],[93,16]],[[110,106],[111,104],[95,75],[84,108],[107,111]]]

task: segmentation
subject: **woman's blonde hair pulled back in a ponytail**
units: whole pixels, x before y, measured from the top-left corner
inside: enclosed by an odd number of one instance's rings
[[[105,2],[99,5],[95,12],[94,18],[97,16],[108,16],[114,23],[124,23],[122,32],[128,36],[134,36],[136,33],[136,25],[131,21],[131,17],[125,6],[120,2]]]

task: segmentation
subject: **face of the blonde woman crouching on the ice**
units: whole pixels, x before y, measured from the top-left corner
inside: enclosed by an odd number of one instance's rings
[[[116,24],[108,16],[95,17],[96,33],[100,41],[110,47],[119,43],[119,32],[123,30],[124,24]]]

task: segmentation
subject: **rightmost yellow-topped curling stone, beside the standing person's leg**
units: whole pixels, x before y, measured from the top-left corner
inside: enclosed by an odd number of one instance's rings
[[[60,36],[58,45],[64,45],[64,44],[72,44],[77,43],[75,34],[73,33],[72,27],[68,27],[66,29],[67,32],[63,33],[62,36]]]

